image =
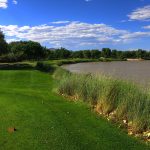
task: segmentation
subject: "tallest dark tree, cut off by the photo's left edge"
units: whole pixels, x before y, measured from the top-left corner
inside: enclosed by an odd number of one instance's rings
[[[8,53],[8,45],[5,41],[5,36],[3,32],[0,30],[0,55]]]

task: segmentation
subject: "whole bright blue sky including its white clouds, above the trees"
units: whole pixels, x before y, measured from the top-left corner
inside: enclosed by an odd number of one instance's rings
[[[0,0],[8,42],[150,50],[150,0]]]

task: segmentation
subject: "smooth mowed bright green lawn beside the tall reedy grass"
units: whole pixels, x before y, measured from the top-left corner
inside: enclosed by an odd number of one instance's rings
[[[0,71],[0,150],[148,150],[39,71]],[[9,133],[8,128],[17,131]]]

